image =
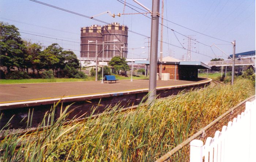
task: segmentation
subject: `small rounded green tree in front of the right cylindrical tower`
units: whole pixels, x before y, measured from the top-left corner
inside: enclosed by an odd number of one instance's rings
[[[109,61],[109,65],[114,67],[115,72],[120,72],[120,70],[127,71],[129,70],[129,66],[125,58],[121,58],[120,56],[115,56]]]

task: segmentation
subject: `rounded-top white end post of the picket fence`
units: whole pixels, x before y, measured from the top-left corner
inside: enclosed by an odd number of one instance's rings
[[[194,139],[190,142],[190,162],[203,162],[203,141]]]

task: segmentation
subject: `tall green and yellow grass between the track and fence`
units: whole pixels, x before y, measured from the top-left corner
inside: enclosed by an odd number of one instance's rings
[[[253,94],[251,81],[237,79],[233,86],[180,93],[125,113],[114,106],[98,118],[67,126],[68,107],[57,121],[53,107],[41,125],[49,129],[28,137],[14,134],[0,143],[0,161],[154,161]],[[15,152],[18,143],[22,147]]]

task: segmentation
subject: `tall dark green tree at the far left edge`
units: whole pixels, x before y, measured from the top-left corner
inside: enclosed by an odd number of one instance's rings
[[[24,53],[25,45],[18,28],[0,22],[0,66],[5,66],[8,73],[14,67],[24,68]]]

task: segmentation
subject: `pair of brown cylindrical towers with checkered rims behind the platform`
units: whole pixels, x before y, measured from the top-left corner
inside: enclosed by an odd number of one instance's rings
[[[95,61],[96,41],[98,44],[98,60],[110,61],[114,56],[127,57],[128,27],[119,23],[109,25],[92,25],[81,28],[80,57],[84,61]],[[102,57],[102,42],[104,45],[104,56]],[[126,47],[126,48],[121,48]]]

